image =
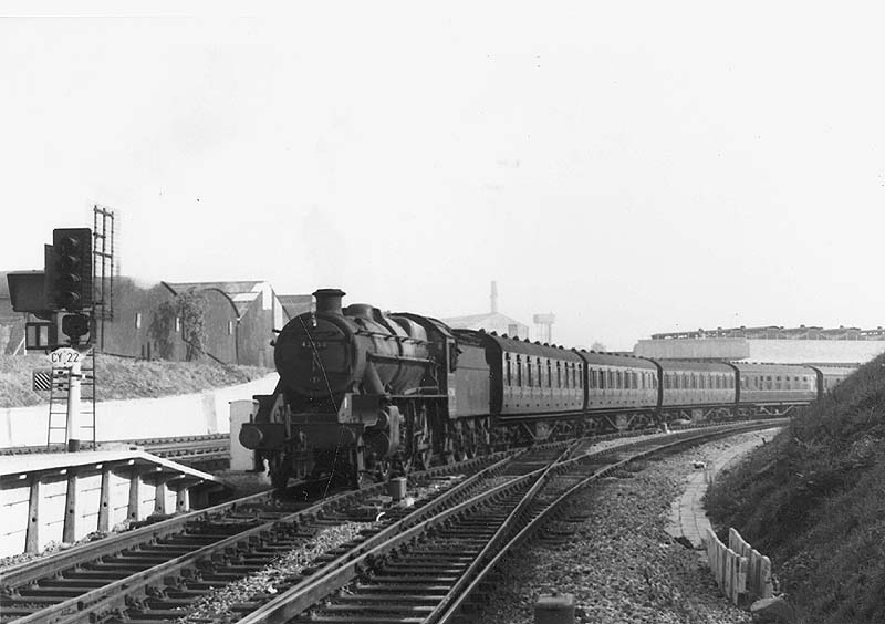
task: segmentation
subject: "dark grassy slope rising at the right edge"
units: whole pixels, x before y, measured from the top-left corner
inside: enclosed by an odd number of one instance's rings
[[[707,509],[771,558],[803,622],[885,622],[885,355],[719,478]]]

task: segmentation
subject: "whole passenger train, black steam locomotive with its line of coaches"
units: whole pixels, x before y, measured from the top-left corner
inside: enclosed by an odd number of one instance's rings
[[[366,479],[562,437],[675,418],[783,415],[848,371],[728,362],[653,361],[452,330],[313,293],[316,311],[274,341],[280,374],[256,396],[240,443],[290,478]]]

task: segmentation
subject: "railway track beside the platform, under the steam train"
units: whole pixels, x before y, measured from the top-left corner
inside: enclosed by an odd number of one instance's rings
[[[416,485],[436,481],[442,490],[455,482],[447,475],[481,469],[502,455],[416,474]],[[260,492],[8,568],[0,573],[0,623],[132,622],[139,610],[156,606],[143,599],[169,592],[149,617],[156,622],[164,610],[180,615],[171,610],[262,569],[324,528],[365,520],[376,507],[363,503],[385,488],[379,483],[319,501]],[[400,514],[387,510],[384,523]]]

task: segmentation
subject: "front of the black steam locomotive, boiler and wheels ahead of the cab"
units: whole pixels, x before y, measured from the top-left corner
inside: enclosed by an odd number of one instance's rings
[[[339,289],[313,294],[316,312],[292,319],[273,343],[280,381],[256,397],[240,441],[268,460],[278,487],[309,475],[344,474],[354,485],[367,474],[385,477],[421,445],[420,409],[404,403],[438,397],[445,357],[423,319],[366,304],[342,309]]]

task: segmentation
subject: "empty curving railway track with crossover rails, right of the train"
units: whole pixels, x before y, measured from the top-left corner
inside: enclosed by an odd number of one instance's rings
[[[456,622],[464,618],[467,601],[500,559],[579,489],[654,454],[758,427],[681,431],[593,454],[583,454],[584,443],[579,441],[548,458],[544,466],[543,458],[513,460],[501,475],[511,478],[492,479],[467,500],[391,535],[371,551],[342,558],[336,569],[320,571],[240,623]]]

